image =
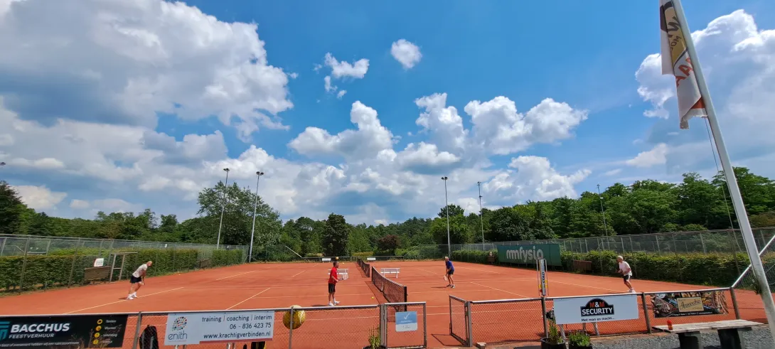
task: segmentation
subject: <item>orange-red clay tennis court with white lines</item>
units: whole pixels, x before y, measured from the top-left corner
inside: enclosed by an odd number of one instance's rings
[[[460,342],[449,334],[449,295],[468,301],[489,299],[525,299],[538,295],[536,271],[522,268],[498,267],[484,264],[455,262],[456,289],[446,288],[443,280],[443,261],[377,261],[371,266],[400,268],[398,278],[389,278],[408,288],[408,302],[426,302],[428,346],[459,347]],[[153,267],[152,267],[153,268]],[[147,278],[140,289],[140,298],[127,301],[129,282],[88,285],[71,289],[8,295],[0,298],[0,315],[137,313],[143,312],[142,326],[155,325],[164,330],[167,317],[153,312],[190,310],[267,309],[292,305],[303,307],[326,306],[326,280],[329,263],[242,264],[228,268],[192,271],[179,275]],[[342,262],[339,269],[348,269],[350,278],[340,282],[336,289],[339,306],[374,305],[384,303],[381,292],[372,285],[355,262]],[[605,295],[627,291],[621,278],[577,275],[549,271],[549,296]],[[652,282],[633,279],[638,292],[681,291],[707,289],[697,285]],[[763,306],[753,292],[737,291],[739,311],[743,319],[765,322]],[[727,299],[731,304],[731,301]],[[537,305],[537,306],[536,306]],[[335,347],[362,348],[368,344],[369,330],[379,326],[378,312],[374,309],[347,307],[306,311],[306,322],[293,331],[294,347],[326,347],[322,343],[336,343]],[[474,337],[487,341],[537,340],[543,334],[540,302],[477,304],[474,309]],[[687,316],[672,318],[673,323],[734,319],[722,316]],[[418,320],[422,307],[414,306]],[[281,324],[281,313],[276,315],[274,342],[288,344],[288,330]],[[460,319],[462,308],[453,307],[453,318]],[[701,320],[698,320],[701,319]],[[136,320],[130,318],[125,347],[132,346]],[[421,320],[422,321],[422,320]],[[453,320],[453,322],[456,320]],[[633,330],[645,327],[632,320]],[[605,324],[605,325],[604,325]],[[652,326],[661,324],[652,321]],[[422,324],[420,324],[422,327]],[[625,325],[626,326],[626,323]],[[524,330],[515,331],[517,327]],[[614,328],[618,327],[618,328]],[[600,323],[601,333],[622,333],[622,322]],[[637,327],[637,328],[636,328]],[[520,332],[515,336],[514,332]],[[625,331],[626,332],[626,331]],[[161,334],[161,333],[160,333]],[[391,333],[390,336],[395,336]],[[365,337],[364,337],[365,336]],[[405,336],[398,338],[400,336]],[[413,337],[412,337],[413,336]],[[419,336],[419,339],[417,338]],[[398,341],[422,343],[422,330],[401,333]],[[484,340],[483,340],[484,341]],[[301,345],[301,344],[309,344]],[[160,340],[163,345],[163,341]],[[392,345],[392,343],[391,343]],[[223,347],[223,344],[212,344]],[[239,344],[239,347],[242,347]],[[271,345],[269,347],[276,347]],[[281,345],[280,347],[283,347]],[[327,346],[332,347],[332,346]]]

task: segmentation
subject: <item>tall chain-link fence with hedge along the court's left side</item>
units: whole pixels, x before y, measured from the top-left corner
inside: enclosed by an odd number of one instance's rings
[[[153,261],[149,276],[244,263],[246,246],[0,235],[0,291],[126,278]],[[102,265],[95,264],[102,259]]]

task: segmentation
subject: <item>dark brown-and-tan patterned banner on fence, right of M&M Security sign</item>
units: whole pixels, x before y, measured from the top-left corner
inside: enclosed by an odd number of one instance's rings
[[[651,295],[654,317],[718,315],[728,312],[723,291],[673,292]]]

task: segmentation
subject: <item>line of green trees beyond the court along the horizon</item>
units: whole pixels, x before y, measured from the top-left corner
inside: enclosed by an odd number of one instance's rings
[[[735,175],[752,225],[775,226],[775,182],[748,168],[735,168]],[[255,199],[250,188],[219,182],[202,189],[197,215],[183,222],[151,209],[66,219],[27,207],[12,186],[0,181],[0,233],[215,244],[226,202],[220,243],[246,245],[250,244]],[[706,179],[687,173],[680,183],[649,179],[632,185],[616,183],[600,195],[583,192],[577,199],[483,209],[481,216],[449,205],[436,217],[413,217],[387,225],[353,225],[336,213],[327,219],[301,216],[283,222],[281,214],[259,196],[254,246],[261,251],[284,245],[302,255],[400,254],[412,246],[446,244],[447,212],[453,244],[481,242],[483,235],[485,241],[507,241],[737,227],[723,175]]]

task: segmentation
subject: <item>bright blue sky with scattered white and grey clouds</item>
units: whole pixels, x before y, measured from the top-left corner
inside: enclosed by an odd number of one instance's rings
[[[469,211],[477,181],[496,207],[711,175],[703,120],[679,132],[674,86],[649,60],[657,7],[0,0],[0,44],[15,49],[0,60],[2,178],[52,215],[188,218],[220,168],[246,186],[260,169],[284,218],[384,223],[432,216],[441,175]],[[684,8],[735,164],[775,176],[775,5]]]

